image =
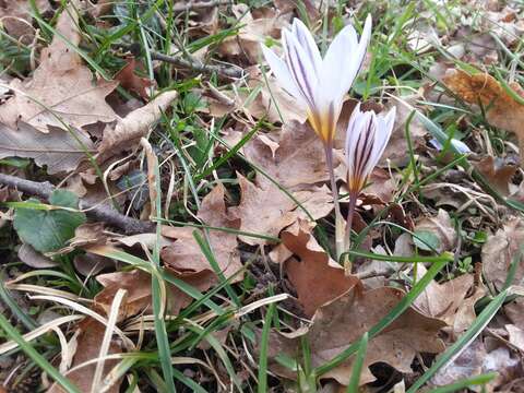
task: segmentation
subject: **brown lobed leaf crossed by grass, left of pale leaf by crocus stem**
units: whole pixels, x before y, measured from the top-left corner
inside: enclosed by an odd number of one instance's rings
[[[231,217],[226,210],[224,202],[224,186],[216,186],[202,200],[198,217],[203,224],[215,228],[239,228],[239,219]],[[162,260],[172,271],[179,274],[194,274],[201,272],[213,272],[210,262],[202,253],[202,250],[194,239],[193,233],[200,233],[204,238],[203,231],[191,227],[168,227],[163,226],[162,233],[168,238],[175,238],[176,241],[160,251]],[[242,269],[240,254],[237,250],[237,235],[219,229],[209,230],[211,248],[216,258],[216,262],[226,278],[230,277]],[[233,282],[242,279],[241,274],[237,274]],[[210,286],[212,283],[210,283]]]

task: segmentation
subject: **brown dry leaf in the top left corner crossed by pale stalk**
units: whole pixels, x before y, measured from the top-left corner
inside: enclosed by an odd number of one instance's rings
[[[36,0],[35,5],[39,13],[50,9],[47,0]],[[32,5],[28,0],[0,1],[0,21],[11,37],[21,39],[23,44],[31,44],[35,28],[32,26]]]

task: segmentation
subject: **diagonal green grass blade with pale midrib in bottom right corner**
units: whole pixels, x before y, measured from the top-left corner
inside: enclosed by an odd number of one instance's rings
[[[484,327],[491,321],[499,308],[504,302],[508,296],[508,291],[503,290],[497,295],[491,302],[480,312],[475,322],[451,347],[448,348],[442,355],[440,355],[433,365],[427,370],[422,377],[420,377],[415,383],[407,390],[406,393],[416,393],[427,381],[433,377],[446,362],[451,361],[454,357],[458,356],[461,352],[474,341],[477,335],[484,330]]]

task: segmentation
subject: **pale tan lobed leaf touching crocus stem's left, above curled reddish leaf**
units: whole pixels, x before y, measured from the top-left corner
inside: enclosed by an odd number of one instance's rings
[[[240,186],[240,204],[229,209],[233,216],[240,219],[240,230],[278,237],[281,230],[291,225],[298,217],[307,214],[283,190],[270,181],[257,186],[237,174]],[[325,217],[333,209],[330,190],[323,187],[310,187],[293,192],[293,198],[314,218]],[[239,238],[251,246],[266,245],[269,239],[241,235]]]

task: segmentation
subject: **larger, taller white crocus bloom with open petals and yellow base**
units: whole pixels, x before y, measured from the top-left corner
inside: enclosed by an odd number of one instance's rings
[[[344,95],[362,64],[370,35],[368,15],[360,41],[355,28],[347,25],[322,59],[309,29],[295,19],[291,28],[282,33],[283,59],[262,45],[278,83],[297,99],[298,106],[306,108],[309,123],[326,145],[333,142]]]

